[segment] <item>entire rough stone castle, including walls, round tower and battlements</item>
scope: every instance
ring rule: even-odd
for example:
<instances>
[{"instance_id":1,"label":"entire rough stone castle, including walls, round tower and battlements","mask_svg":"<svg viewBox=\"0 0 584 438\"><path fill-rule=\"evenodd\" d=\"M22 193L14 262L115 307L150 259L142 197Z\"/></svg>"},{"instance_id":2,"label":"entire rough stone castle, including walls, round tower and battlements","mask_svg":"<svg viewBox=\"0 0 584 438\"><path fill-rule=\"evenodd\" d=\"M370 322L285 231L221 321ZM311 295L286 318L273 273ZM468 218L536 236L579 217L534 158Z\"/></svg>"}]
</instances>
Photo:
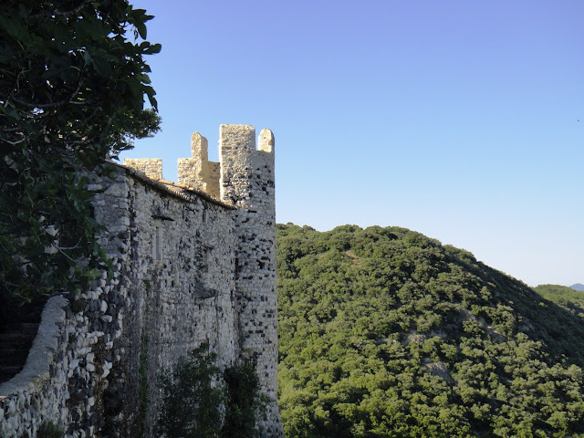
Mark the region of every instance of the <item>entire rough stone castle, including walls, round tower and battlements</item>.
<instances>
[{"instance_id":1,"label":"entire rough stone castle, including walls, round tower and battlements","mask_svg":"<svg viewBox=\"0 0 584 438\"><path fill-rule=\"evenodd\" d=\"M257 151L251 126L222 125L220 136L221 172L195 133L193 158L184 159L193 162L183 162L180 174L183 184L221 201L145 177L162 178L160 161L126 161L144 173L119 166L112 180L92 178L114 274L104 272L80 297L49 300L25 369L0 387L0 436L36 436L43 421L67 437L154 436L162 368L203 341L221 367L242 355L257 360L272 398L261 427L265 436L283 436L274 136L262 130Z\"/></svg>"}]
</instances>

